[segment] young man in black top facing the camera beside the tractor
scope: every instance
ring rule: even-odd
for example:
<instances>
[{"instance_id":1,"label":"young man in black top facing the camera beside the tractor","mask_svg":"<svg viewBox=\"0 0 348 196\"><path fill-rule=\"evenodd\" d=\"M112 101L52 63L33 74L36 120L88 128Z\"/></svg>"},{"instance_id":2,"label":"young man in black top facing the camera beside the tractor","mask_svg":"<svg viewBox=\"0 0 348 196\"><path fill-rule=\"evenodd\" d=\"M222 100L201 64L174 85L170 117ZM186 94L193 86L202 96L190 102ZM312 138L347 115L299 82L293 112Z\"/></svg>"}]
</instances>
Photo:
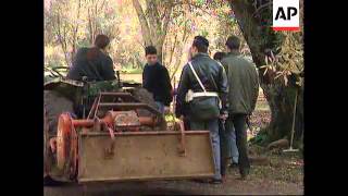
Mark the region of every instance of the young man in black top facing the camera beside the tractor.
<instances>
[{"instance_id":1,"label":"young man in black top facing the camera beside the tractor","mask_svg":"<svg viewBox=\"0 0 348 196\"><path fill-rule=\"evenodd\" d=\"M145 56L147 64L142 72L142 87L152 93L160 112L164 114L173 100L170 75L166 68L158 62L153 46L145 48Z\"/></svg>"}]
</instances>

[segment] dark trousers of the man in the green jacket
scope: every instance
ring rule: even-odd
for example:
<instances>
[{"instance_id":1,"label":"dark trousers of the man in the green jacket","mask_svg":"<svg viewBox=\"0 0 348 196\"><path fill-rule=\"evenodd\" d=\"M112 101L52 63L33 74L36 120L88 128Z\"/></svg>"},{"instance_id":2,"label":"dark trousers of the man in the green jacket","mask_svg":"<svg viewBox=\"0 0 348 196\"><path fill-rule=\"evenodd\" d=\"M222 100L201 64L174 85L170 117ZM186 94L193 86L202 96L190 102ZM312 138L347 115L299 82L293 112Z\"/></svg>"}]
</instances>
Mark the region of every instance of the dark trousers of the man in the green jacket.
<instances>
[{"instance_id":1,"label":"dark trousers of the man in the green jacket","mask_svg":"<svg viewBox=\"0 0 348 196\"><path fill-rule=\"evenodd\" d=\"M239 152L238 164L240 174L245 174L250 169L247 148L246 119L246 114L232 114L226 120L226 128L228 128L228 131L235 128L236 132L236 143Z\"/></svg>"}]
</instances>

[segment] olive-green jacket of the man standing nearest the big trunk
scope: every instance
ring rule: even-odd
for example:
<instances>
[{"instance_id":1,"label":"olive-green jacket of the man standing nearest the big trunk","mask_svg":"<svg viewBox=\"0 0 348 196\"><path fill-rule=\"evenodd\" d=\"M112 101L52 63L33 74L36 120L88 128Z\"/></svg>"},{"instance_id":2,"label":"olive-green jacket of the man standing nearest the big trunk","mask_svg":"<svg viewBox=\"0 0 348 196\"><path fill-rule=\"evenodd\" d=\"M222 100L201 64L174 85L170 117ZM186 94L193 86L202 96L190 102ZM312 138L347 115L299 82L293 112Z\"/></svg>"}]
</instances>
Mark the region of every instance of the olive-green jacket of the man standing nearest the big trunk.
<instances>
[{"instance_id":1,"label":"olive-green jacket of the man standing nearest the big trunk","mask_svg":"<svg viewBox=\"0 0 348 196\"><path fill-rule=\"evenodd\" d=\"M238 52L231 52L221 63L228 77L231 114L251 114L259 95L259 76L253 63Z\"/></svg>"}]
</instances>

